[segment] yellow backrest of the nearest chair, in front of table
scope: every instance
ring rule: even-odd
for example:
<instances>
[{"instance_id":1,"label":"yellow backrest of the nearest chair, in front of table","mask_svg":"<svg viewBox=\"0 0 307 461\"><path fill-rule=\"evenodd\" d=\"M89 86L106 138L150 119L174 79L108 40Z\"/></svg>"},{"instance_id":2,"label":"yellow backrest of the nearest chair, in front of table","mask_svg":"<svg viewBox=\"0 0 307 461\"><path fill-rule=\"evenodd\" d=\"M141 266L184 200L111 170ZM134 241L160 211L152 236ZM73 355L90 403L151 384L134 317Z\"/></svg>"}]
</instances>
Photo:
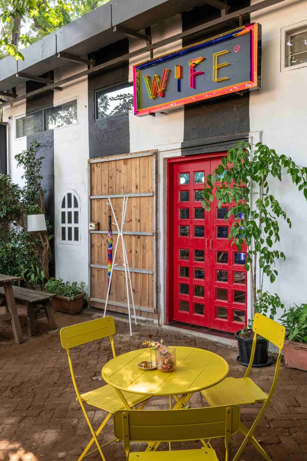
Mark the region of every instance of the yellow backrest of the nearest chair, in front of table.
<instances>
[{"instance_id":1,"label":"yellow backrest of the nearest chair, in front of table","mask_svg":"<svg viewBox=\"0 0 307 461\"><path fill-rule=\"evenodd\" d=\"M125 440L125 415L128 418L128 439L131 442L172 442L225 437L227 410L232 416L231 434L235 434L239 429L240 409L237 405L223 405L186 410L120 410L114 414L115 437Z\"/></svg>"}]
</instances>

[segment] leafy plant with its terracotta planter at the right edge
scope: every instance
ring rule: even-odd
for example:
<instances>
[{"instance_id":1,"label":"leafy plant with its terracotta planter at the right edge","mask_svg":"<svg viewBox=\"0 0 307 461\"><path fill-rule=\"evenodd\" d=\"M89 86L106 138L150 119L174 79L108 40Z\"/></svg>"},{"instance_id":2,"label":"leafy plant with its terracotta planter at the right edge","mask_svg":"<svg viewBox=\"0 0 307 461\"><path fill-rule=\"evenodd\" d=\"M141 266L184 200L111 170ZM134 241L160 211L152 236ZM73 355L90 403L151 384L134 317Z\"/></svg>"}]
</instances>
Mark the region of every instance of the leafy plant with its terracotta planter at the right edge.
<instances>
[{"instance_id":1,"label":"leafy plant with its terracotta planter at the right edge","mask_svg":"<svg viewBox=\"0 0 307 461\"><path fill-rule=\"evenodd\" d=\"M307 371L307 303L290 307L279 319L286 327L284 362L288 368Z\"/></svg>"}]
</instances>

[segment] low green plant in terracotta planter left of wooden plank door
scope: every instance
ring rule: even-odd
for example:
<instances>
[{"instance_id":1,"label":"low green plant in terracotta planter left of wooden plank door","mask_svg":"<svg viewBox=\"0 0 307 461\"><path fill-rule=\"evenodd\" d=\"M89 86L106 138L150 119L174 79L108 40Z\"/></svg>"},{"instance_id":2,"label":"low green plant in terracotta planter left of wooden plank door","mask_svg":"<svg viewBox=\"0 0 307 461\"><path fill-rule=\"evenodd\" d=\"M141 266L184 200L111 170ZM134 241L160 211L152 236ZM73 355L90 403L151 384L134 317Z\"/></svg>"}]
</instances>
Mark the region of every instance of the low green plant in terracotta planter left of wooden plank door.
<instances>
[{"instance_id":1,"label":"low green plant in terracotta planter left of wooden plank door","mask_svg":"<svg viewBox=\"0 0 307 461\"><path fill-rule=\"evenodd\" d=\"M55 311L66 312L75 315L82 311L85 296L85 283L66 282L62 278L50 278L45 285L48 293L54 293L52 307Z\"/></svg>"}]
</instances>

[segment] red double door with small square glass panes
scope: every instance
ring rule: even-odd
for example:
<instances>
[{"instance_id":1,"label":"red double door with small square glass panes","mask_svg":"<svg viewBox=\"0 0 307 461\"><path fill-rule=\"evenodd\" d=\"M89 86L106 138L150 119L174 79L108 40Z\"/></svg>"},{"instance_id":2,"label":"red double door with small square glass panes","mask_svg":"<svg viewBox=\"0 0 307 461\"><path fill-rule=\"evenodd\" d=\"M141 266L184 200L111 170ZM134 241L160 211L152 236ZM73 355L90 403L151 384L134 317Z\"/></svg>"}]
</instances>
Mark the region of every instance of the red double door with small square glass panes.
<instances>
[{"instance_id":1,"label":"red double door with small square glass panes","mask_svg":"<svg viewBox=\"0 0 307 461\"><path fill-rule=\"evenodd\" d=\"M209 212L201 204L204 178L225 154L168 160L167 310L168 321L235 332L246 325L246 247L238 253L228 240L234 203L218 208L214 193Z\"/></svg>"}]
</instances>

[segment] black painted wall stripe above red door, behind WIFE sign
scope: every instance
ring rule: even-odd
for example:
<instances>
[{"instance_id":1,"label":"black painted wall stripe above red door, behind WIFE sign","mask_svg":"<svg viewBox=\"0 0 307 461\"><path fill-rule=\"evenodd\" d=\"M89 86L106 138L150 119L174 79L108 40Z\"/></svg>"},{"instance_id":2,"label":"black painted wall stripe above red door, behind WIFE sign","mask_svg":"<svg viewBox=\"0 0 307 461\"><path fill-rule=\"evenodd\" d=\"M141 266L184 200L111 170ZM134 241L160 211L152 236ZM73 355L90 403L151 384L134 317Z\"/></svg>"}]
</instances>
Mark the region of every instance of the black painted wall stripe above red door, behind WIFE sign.
<instances>
[{"instance_id":1,"label":"black painted wall stripe above red door, behind WIFE sign","mask_svg":"<svg viewBox=\"0 0 307 461\"><path fill-rule=\"evenodd\" d=\"M249 1L230 0L230 12L249 6ZM205 5L182 13L182 30L191 29L199 24L204 24L214 18L220 17L216 8ZM249 16L243 18L243 24L249 23ZM188 46L221 32L238 27L237 20L231 24L223 24L215 29L210 29L197 37L192 36L183 40L182 46ZM249 93L243 96L230 95L202 101L197 104L185 106L184 142L206 139L216 136L225 136L249 132Z\"/></svg>"}]
</instances>

